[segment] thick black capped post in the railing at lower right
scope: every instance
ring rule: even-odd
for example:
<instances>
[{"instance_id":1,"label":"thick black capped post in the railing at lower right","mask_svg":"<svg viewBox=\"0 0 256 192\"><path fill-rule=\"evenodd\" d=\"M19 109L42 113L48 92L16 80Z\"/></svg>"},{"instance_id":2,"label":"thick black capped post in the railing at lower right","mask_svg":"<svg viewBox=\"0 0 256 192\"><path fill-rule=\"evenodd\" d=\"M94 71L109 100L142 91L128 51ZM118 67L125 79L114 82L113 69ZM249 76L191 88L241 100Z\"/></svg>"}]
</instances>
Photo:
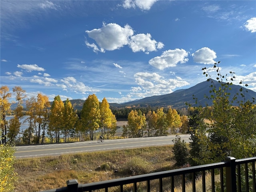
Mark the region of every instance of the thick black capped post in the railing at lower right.
<instances>
[{"instance_id":1,"label":"thick black capped post in the railing at lower right","mask_svg":"<svg viewBox=\"0 0 256 192\"><path fill-rule=\"evenodd\" d=\"M236 158L225 157L225 161L229 163L226 167L226 191L236 191Z\"/></svg>"}]
</instances>

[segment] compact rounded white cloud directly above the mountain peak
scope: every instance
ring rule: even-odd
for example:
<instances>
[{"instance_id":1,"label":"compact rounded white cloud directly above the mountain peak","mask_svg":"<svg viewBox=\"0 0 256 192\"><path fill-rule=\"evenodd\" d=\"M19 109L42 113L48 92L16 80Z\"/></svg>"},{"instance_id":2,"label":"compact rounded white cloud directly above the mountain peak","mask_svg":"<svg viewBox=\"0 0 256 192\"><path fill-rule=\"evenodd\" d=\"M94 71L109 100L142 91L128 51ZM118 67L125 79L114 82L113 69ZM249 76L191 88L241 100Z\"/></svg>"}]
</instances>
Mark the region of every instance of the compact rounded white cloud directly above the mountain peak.
<instances>
[{"instance_id":1,"label":"compact rounded white cloud directly above the mountain peak","mask_svg":"<svg viewBox=\"0 0 256 192\"><path fill-rule=\"evenodd\" d=\"M203 47L192 54L194 62L202 64L214 64L217 57L213 50Z\"/></svg>"}]
</instances>

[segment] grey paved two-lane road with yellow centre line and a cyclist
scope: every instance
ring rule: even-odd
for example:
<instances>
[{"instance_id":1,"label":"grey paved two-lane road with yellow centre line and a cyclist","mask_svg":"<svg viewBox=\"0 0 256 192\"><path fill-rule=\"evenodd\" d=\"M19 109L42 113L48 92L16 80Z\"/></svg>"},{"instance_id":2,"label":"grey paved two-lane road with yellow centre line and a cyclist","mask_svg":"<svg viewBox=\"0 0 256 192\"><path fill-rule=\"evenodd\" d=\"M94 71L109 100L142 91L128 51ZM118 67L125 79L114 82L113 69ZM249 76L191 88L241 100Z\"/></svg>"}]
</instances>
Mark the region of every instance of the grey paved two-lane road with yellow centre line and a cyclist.
<instances>
[{"instance_id":1,"label":"grey paved two-lane road with yellow centre line and a cyclist","mask_svg":"<svg viewBox=\"0 0 256 192\"><path fill-rule=\"evenodd\" d=\"M180 135L185 142L189 142L190 135ZM104 140L103 143L96 141L45 144L33 146L17 146L14 156L16 158L32 158L42 156L58 156L68 153L96 152L106 150L118 150L128 148L139 148L148 146L163 146L173 144L175 135L161 137L128 138L116 140Z\"/></svg>"}]
</instances>

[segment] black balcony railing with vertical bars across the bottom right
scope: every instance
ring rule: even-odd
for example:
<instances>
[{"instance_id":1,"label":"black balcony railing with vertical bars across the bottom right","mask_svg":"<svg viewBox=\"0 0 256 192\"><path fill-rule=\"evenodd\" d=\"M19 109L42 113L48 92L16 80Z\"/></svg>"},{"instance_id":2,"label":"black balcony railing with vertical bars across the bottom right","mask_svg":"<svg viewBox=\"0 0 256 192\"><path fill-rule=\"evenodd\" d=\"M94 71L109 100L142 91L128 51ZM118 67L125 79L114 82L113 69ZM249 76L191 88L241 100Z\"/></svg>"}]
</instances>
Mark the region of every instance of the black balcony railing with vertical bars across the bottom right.
<instances>
[{"instance_id":1,"label":"black balcony railing with vertical bars across the bottom right","mask_svg":"<svg viewBox=\"0 0 256 192\"><path fill-rule=\"evenodd\" d=\"M255 163L256 157L238 160L234 157L226 157L224 162L219 163L155 172L89 184L78 184L75 179L68 180L66 187L44 192L92 192L94 190L98 190L98 192L150 192L150 190L152 191L152 186L154 187L153 191L163 192L166 190L174 192L175 184L180 185L181 191L185 192L188 180L192 184L192 191L196 192L196 182L198 182L196 178L198 178L198 176L201 178L200 180L202 180L200 191L205 192L207 174L211 175L210 188L212 192L217 190L216 186L218 186L218 191L220 192L256 192ZM218 182L215 181L215 175L220 177ZM177 176L180 181L178 183L174 179ZM140 185L140 183L144 183L144 185Z\"/></svg>"}]
</instances>

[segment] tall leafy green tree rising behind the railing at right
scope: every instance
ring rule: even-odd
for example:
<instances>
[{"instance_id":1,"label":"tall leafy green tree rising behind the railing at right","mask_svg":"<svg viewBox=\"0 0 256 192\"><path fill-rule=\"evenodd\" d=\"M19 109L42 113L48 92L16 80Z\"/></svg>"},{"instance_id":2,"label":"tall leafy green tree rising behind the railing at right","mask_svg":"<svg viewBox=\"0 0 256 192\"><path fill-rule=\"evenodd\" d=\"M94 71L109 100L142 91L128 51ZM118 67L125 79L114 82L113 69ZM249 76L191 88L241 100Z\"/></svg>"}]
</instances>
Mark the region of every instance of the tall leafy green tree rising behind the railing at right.
<instances>
[{"instance_id":1,"label":"tall leafy green tree rising behind the railing at right","mask_svg":"<svg viewBox=\"0 0 256 192\"><path fill-rule=\"evenodd\" d=\"M236 78L235 73L229 72L229 75L222 75L219 63L213 66L216 68L217 82L212 80L206 67L202 68L203 74L208 78L207 81L211 82L210 95L205 97L212 100L212 105L196 107L198 114L193 116L197 119L198 126L192 131L192 142L197 142L206 148L200 156L193 157L193 161L198 164L218 162L224 160L226 156L246 158L256 154L255 142L252 142L256 140L255 98L246 100L244 87L231 95L230 90ZM241 81L240 84L242 83ZM242 100L238 99L241 98L240 96ZM197 102L197 99L194 99ZM208 119L208 123L202 121L204 119ZM198 147L195 144L192 146Z\"/></svg>"}]
</instances>

